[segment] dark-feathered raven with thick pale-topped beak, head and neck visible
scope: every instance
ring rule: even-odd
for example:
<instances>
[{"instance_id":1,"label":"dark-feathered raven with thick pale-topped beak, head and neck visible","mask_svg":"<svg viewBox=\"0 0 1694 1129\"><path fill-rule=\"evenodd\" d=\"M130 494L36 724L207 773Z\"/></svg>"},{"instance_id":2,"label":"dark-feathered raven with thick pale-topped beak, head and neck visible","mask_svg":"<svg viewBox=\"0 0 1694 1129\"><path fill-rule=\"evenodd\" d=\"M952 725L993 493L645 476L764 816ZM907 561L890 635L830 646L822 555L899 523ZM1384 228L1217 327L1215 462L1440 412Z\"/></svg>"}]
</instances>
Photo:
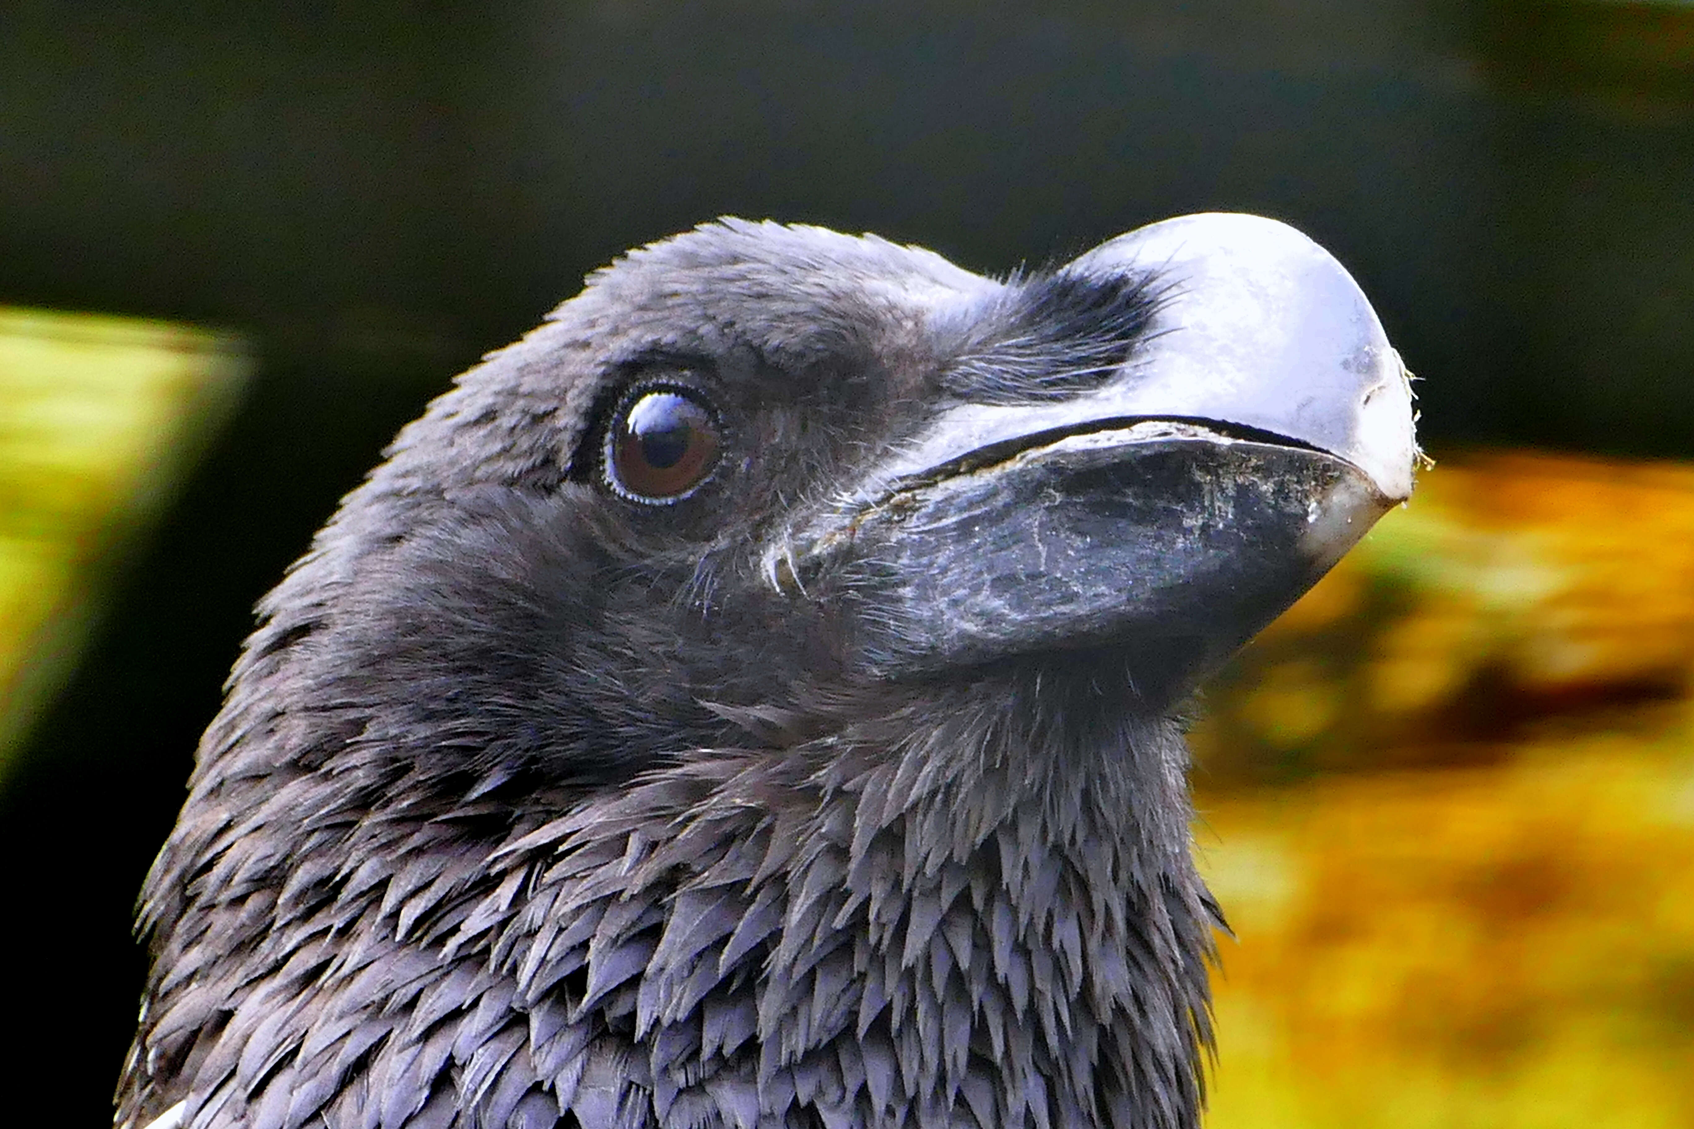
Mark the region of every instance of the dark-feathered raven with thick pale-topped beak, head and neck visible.
<instances>
[{"instance_id":1,"label":"dark-feathered raven with thick pale-topped beak, head and neck visible","mask_svg":"<svg viewBox=\"0 0 1694 1129\"><path fill-rule=\"evenodd\" d=\"M1196 1126L1184 702L1416 459L1272 220L627 254L259 604L117 1122Z\"/></svg>"}]
</instances>

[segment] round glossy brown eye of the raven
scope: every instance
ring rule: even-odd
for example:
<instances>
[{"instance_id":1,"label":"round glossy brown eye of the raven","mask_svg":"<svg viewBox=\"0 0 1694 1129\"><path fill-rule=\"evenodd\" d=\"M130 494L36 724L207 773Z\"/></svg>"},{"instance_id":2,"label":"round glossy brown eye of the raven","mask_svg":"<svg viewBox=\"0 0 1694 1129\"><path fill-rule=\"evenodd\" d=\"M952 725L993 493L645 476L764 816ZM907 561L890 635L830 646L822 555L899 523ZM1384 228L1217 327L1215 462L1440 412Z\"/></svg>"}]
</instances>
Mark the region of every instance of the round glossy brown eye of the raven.
<instances>
[{"instance_id":1,"label":"round glossy brown eye of the raven","mask_svg":"<svg viewBox=\"0 0 1694 1129\"><path fill-rule=\"evenodd\" d=\"M606 435L606 479L639 501L676 501L718 462L717 416L691 394L664 388L632 396Z\"/></svg>"}]
</instances>

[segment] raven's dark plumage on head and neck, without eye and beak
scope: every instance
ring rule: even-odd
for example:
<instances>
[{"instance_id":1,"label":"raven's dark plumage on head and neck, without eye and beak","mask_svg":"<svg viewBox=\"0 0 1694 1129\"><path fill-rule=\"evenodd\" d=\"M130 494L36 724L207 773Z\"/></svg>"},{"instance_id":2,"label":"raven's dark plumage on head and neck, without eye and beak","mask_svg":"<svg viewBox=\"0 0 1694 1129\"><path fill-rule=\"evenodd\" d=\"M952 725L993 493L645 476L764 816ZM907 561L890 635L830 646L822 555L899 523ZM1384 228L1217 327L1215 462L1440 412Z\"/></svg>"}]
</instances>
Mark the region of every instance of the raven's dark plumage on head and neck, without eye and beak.
<instances>
[{"instance_id":1,"label":"raven's dark plumage on head and neck, without eye and beak","mask_svg":"<svg viewBox=\"0 0 1694 1129\"><path fill-rule=\"evenodd\" d=\"M1110 652L872 679L756 552L927 406L1093 388L1155 295L725 222L464 374L259 608L119 1122L1194 1126L1179 723ZM644 506L596 437L659 376L734 427Z\"/></svg>"}]
</instances>

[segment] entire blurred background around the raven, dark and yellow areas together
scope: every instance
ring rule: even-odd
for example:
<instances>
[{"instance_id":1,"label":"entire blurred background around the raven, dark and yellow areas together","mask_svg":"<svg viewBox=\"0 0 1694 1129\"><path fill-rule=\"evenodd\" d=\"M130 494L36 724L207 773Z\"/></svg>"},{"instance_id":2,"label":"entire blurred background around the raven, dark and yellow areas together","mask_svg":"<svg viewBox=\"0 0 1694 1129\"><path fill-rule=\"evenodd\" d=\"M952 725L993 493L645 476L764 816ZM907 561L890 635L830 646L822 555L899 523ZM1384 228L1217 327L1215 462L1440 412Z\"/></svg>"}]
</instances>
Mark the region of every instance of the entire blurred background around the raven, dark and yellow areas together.
<instances>
[{"instance_id":1,"label":"entire blurred background around the raven, dark and yellow areas together","mask_svg":"<svg viewBox=\"0 0 1694 1129\"><path fill-rule=\"evenodd\" d=\"M586 271L720 213L998 273L1213 208L1355 273L1438 465L1206 697L1210 1124L1694 1124L1669 0L5 0L5 1107L108 1124L252 603Z\"/></svg>"}]
</instances>

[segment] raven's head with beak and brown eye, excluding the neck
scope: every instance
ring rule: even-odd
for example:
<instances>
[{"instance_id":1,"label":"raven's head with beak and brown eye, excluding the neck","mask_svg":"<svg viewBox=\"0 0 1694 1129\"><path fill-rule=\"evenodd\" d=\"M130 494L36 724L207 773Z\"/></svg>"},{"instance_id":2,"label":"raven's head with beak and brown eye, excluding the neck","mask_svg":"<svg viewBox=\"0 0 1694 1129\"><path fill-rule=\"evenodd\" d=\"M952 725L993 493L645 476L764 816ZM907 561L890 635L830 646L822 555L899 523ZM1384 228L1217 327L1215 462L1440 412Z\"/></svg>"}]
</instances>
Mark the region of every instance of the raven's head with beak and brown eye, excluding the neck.
<instances>
[{"instance_id":1,"label":"raven's head with beak and brown eye, excluding the neck","mask_svg":"<svg viewBox=\"0 0 1694 1129\"><path fill-rule=\"evenodd\" d=\"M1409 494L1409 399L1270 220L1005 281L706 225L412 425L246 662L291 648L296 708L459 779L623 779L994 672L1160 713Z\"/></svg>"}]
</instances>

